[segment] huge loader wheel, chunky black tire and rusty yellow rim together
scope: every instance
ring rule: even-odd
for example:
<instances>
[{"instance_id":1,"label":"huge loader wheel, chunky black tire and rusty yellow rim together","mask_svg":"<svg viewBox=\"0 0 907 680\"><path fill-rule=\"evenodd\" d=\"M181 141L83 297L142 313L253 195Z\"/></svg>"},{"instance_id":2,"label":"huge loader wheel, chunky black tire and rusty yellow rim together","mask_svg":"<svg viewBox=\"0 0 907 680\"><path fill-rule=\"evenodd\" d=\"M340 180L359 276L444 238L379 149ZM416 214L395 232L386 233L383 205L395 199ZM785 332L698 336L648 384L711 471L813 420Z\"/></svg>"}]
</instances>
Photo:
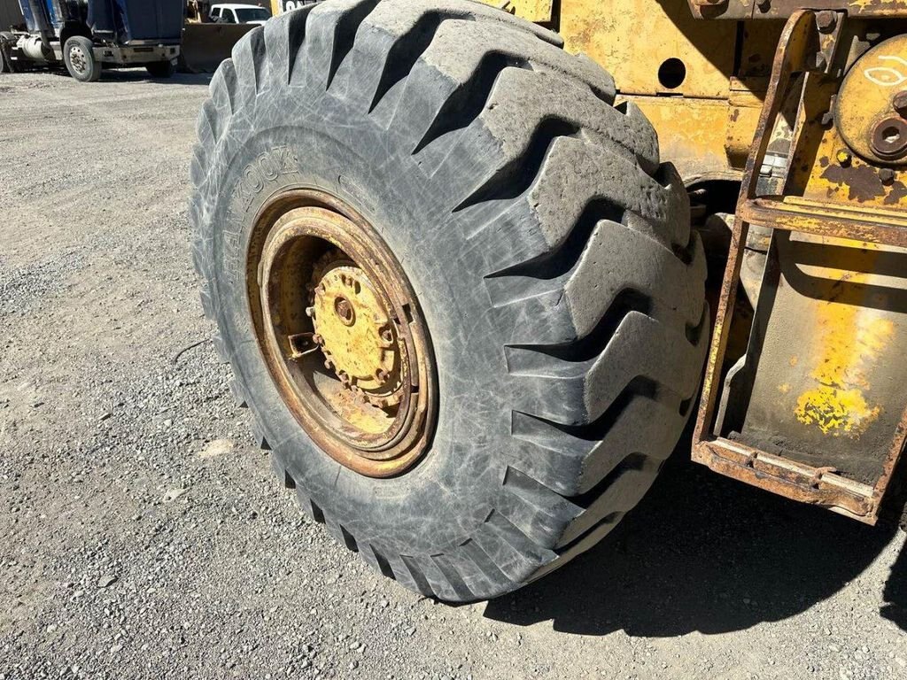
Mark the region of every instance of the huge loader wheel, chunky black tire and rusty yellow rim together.
<instances>
[{"instance_id":1,"label":"huge loader wheel, chunky black tire and rusty yellow rim together","mask_svg":"<svg viewBox=\"0 0 907 680\"><path fill-rule=\"evenodd\" d=\"M687 194L610 76L490 6L330 0L246 35L210 92L202 306L303 508L450 601L605 536L708 341Z\"/></svg>"}]
</instances>

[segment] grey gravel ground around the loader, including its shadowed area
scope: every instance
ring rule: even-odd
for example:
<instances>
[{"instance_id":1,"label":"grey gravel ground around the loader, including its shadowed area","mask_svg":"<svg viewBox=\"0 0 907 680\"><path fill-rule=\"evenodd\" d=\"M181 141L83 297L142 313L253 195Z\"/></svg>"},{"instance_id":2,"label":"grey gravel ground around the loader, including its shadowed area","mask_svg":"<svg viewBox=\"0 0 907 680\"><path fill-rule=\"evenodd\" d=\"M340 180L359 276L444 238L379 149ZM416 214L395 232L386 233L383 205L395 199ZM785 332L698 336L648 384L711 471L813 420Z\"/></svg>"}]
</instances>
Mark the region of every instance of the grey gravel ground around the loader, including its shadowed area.
<instances>
[{"instance_id":1,"label":"grey gravel ground around the loader, including its shadowed area","mask_svg":"<svg viewBox=\"0 0 907 680\"><path fill-rule=\"evenodd\" d=\"M902 533L719 478L688 441L605 543L492 603L340 549L207 340L206 85L0 76L0 680L907 678Z\"/></svg>"}]
</instances>

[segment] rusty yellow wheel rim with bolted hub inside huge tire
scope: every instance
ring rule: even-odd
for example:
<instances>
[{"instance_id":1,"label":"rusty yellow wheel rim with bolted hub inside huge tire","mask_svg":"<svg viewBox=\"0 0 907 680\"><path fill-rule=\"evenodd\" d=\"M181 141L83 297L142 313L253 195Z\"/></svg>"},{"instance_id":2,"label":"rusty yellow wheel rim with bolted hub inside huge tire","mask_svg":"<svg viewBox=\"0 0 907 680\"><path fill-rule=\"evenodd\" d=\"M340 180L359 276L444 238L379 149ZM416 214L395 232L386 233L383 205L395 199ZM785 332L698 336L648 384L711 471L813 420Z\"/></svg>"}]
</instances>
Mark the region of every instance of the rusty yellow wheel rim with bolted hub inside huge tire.
<instances>
[{"instance_id":1,"label":"rusty yellow wheel rim with bolted hub inside huge tire","mask_svg":"<svg viewBox=\"0 0 907 680\"><path fill-rule=\"evenodd\" d=\"M249 255L258 346L297 422L350 470L412 468L434 430L434 356L384 239L345 202L294 190L262 210Z\"/></svg>"}]
</instances>

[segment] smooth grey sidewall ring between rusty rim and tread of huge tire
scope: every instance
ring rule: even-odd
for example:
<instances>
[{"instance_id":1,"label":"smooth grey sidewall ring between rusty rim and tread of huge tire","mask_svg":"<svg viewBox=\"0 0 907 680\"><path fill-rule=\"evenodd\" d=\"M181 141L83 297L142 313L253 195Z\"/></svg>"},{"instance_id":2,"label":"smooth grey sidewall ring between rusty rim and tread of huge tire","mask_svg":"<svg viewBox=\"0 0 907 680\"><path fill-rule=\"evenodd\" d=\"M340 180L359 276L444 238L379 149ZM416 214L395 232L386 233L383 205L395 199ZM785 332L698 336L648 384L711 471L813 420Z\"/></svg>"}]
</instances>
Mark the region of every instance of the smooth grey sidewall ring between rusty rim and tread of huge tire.
<instances>
[{"instance_id":1,"label":"smooth grey sidewall ring between rusty rim and tread of huge tire","mask_svg":"<svg viewBox=\"0 0 907 680\"><path fill-rule=\"evenodd\" d=\"M259 94L231 121L203 189L211 206L212 294L219 325L269 444L298 487L354 536L397 553L460 545L498 504L515 445L506 337L466 247L453 197L426 177L412 141L331 94ZM280 115L270 115L279 111ZM274 126L276 119L292 126ZM332 121L344 120L343 126ZM275 172L275 168L279 171ZM282 402L251 324L246 254L258 211L289 189L320 189L385 239L420 302L434 346L439 414L422 461L395 479L349 471L317 449Z\"/></svg>"}]
</instances>

